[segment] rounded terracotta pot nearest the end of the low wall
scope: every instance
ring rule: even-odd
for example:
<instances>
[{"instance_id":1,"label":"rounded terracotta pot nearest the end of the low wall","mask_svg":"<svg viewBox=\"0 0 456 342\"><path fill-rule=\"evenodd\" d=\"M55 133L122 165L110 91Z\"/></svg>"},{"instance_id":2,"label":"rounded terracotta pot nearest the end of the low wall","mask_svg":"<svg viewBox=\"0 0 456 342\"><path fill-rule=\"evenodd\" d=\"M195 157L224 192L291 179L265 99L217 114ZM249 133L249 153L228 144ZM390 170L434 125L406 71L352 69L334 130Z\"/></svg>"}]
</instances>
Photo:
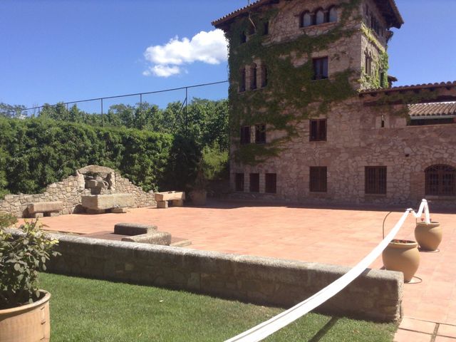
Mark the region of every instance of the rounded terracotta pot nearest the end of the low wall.
<instances>
[{"instance_id":1,"label":"rounded terracotta pot nearest the end of the low wall","mask_svg":"<svg viewBox=\"0 0 456 342\"><path fill-rule=\"evenodd\" d=\"M420 252L415 241L393 240L382 254L383 265L389 271L400 271L404 281L412 280L420 265Z\"/></svg>"}]
</instances>

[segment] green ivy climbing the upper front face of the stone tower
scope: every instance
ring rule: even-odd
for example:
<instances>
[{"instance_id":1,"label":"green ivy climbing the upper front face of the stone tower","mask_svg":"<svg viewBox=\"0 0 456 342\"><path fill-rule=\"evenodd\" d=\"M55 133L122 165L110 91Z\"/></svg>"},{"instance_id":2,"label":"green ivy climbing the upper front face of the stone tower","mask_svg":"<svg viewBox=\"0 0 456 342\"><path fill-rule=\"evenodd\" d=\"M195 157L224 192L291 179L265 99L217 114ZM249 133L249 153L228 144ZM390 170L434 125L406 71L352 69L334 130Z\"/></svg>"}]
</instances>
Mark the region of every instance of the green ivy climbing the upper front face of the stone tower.
<instances>
[{"instance_id":1,"label":"green ivy climbing the upper front face of the stone tower","mask_svg":"<svg viewBox=\"0 0 456 342\"><path fill-rule=\"evenodd\" d=\"M268 131L281 132L264 145L238 145L234 161L247 165L264 162L268 157L277 155L281 145L297 135L296 125L303 120L325 114L331 104L356 95L353 89L353 70L331 74L331 79L313 81L314 70L311 53L323 51L330 44L353 36L358 30L346 28L346 21L356 15L360 0L341 4L341 16L327 33L308 36L305 32L292 41L272 43L264 34L267 21L274 21L275 10L251 14L249 18L238 19L232 24L227 38L229 40L230 69L230 127L232 138L239 138L242 125L264 123ZM257 32L247 36L243 43L243 33L249 32L251 21ZM340 56L333 56L338 58ZM239 93L242 68L255 61L267 66L268 83L265 88L247 90Z\"/></svg>"}]
</instances>

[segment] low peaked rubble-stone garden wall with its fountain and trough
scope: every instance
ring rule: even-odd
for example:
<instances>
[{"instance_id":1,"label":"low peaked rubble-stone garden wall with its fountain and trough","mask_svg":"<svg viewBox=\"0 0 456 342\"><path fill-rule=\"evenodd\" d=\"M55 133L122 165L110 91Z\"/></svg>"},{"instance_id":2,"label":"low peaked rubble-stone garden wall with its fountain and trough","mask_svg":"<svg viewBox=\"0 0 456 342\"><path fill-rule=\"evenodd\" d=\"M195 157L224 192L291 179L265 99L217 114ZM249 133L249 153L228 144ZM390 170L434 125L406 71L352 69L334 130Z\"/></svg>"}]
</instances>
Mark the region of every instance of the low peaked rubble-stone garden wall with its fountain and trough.
<instances>
[{"instance_id":1,"label":"low peaked rubble-stone garden wall with its fountain and trough","mask_svg":"<svg viewBox=\"0 0 456 342\"><path fill-rule=\"evenodd\" d=\"M0 211L16 217L43 217L58 214L100 214L125 212L126 208L156 207L152 191L144 192L109 167L88 165L46 187L36 195L6 195Z\"/></svg>"}]
</instances>

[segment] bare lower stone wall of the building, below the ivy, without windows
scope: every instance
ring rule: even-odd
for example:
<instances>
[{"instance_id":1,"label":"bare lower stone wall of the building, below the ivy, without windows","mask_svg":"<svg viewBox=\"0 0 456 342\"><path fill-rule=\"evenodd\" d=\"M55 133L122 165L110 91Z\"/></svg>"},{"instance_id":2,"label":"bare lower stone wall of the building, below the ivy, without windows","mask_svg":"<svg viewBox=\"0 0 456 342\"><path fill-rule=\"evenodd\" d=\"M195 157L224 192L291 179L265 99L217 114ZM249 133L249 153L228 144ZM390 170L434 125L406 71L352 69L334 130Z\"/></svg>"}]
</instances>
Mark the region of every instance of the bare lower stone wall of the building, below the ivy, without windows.
<instances>
[{"instance_id":1,"label":"bare lower stone wall of the building, below the ivy, without windows","mask_svg":"<svg viewBox=\"0 0 456 342\"><path fill-rule=\"evenodd\" d=\"M244 191L249 192L249 173L255 172L260 174L260 194L254 196L265 199L415 207L427 198L433 207L455 206L456 197L425 195L425 169L437 164L456 167L456 124L408 126L394 110L365 106L359 98L333 105L320 118L327 119L326 141L309 141L309 120L296 123L299 136L285 142L278 157L256 166L232 162L232 189L235 173L241 172ZM268 134L266 139L272 140L281 132ZM314 166L327 167L327 192L310 192L309 170ZM385 195L365 193L366 166L387 167ZM265 173L277 175L275 195L262 195Z\"/></svg>"}]
</instances>

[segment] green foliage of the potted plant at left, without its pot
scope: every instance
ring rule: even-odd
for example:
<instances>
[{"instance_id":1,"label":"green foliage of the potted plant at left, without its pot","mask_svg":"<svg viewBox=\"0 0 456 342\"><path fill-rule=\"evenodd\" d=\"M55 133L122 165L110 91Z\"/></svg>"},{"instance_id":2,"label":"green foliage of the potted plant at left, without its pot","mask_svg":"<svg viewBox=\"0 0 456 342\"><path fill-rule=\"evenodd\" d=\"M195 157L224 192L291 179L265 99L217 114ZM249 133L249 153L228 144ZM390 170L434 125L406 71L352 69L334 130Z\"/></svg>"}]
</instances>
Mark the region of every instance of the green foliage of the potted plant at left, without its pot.
<instances>
[{"instance_id":1,"label":"green foliage of the potted plant at left, without its pot","mask_svg":"<svg viewBox=\"0 0 456 342\"><path fill-rule=\"evenodd\" d=\"M0 228L0 309L39 299L38 271L45 271L46 261L58 254L52 252L57 240L41 232L38 220L26 222L22 230L24 235L12 237Z\"/></svg>"}]
</instances>

